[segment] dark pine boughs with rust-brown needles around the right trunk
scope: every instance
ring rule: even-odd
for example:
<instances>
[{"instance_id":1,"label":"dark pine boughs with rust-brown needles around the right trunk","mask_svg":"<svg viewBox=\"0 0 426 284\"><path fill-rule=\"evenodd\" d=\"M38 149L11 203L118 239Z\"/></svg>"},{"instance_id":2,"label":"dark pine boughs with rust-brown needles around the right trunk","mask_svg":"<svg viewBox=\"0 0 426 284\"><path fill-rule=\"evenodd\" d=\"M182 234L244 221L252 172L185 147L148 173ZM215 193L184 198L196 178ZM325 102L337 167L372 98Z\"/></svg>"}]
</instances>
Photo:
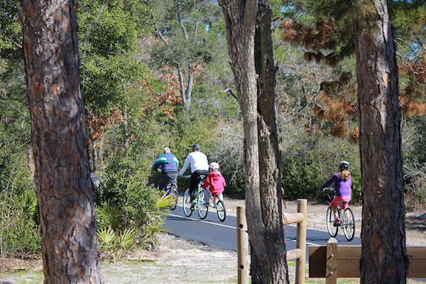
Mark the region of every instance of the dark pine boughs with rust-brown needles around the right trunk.
<instances>
[{"instance_id":1,"label":"dark pine boughs with rust-brown needles around the right trunk","mask_svg":"<svg viewBox=\"0 0 426 284\"><path fill-rule=\"evenodd\" d=\"M424 89L425 75L425 1L393 3L395 38L401 48L410 51L417 46L417 53L400 56L400 76L407 81L400 90L400 107L403 115L422 115L426 111ZM354 58L354 9L349 1L287 1L290 8L280 28L283 40L305 48L306 60L337 66L346 58ZM293 10L294 9L294 10ZM302 16L294 11L302 11ZM368 6L360 9L368 13ZM414 24L412 24L414 23ZM404 53L403 53L404 54ZM341 71L337 80L322 82L314 114L332 124L330 133L339 138L348 138L352 143L359 141L358 102L356 75Z\"/></svg>"}]
</instances>

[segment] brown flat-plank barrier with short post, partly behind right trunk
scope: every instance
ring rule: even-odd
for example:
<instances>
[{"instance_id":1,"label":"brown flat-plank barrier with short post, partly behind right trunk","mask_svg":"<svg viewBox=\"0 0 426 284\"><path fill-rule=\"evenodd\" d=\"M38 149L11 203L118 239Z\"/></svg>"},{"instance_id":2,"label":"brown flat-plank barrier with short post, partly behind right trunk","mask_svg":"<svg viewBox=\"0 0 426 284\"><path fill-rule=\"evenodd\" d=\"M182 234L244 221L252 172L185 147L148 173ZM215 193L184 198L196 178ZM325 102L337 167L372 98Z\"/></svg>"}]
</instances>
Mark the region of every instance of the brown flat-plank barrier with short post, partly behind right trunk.
<instances>
[{"instance_id":1,"label":"brown flat-plank barrier with short post, partly behind right trunk","mask_svg":"<svg viewBox=\"0 0 426 284\"><path fill-rule=\"evenodd\" d=\"M410 259L408 278L426 277L426 246L407 246ZM327 246L309 246L309 277L325 278L327 284L337 283L337 278L359 278L361 246L337 246L330 238Z\"/></svg>"}]
</instances>

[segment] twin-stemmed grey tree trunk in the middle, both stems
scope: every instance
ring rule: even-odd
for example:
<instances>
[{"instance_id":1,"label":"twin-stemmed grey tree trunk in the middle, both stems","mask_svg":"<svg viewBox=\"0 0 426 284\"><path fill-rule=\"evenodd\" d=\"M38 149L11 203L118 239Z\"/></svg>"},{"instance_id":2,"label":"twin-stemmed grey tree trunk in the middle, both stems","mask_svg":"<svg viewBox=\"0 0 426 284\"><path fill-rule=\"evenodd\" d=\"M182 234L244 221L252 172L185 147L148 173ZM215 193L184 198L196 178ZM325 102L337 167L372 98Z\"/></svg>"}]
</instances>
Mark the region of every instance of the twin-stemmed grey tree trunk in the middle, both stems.
<instances>
[{"instance_id":1,"label":"twin-stemmed grey tree trunk in the middle, both stems","mask_svg":"<svg viewBox=\"0 0 426 284\"><path fill-rule=\"evenodd\" d=\"M260 12L256 0L223 0L219 4L224 12L231 67L244 119L246 216L250 243L261 267L261 281L288 283L280 218L271 13L267 2L263 3ZM259 16L259 34L262 33L257 48L260 54L258 75L254 55L256 15Z\"/></svg>"}]
</instances>

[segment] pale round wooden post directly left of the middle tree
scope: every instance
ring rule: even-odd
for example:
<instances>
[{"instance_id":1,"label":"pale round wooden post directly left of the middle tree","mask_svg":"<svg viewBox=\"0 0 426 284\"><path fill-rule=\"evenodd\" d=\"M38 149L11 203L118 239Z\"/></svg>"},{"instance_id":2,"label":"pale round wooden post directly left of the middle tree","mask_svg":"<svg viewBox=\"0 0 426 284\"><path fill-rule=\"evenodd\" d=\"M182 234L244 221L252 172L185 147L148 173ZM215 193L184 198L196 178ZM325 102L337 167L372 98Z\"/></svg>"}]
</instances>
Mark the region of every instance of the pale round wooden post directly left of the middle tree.
<instances>
[{"instance_id":1,"label":"pale round wooden post directly left of the middle tree","mask_svg":"<svg viewBox=\"0 0 426 284\"><path fill-rule=\"evenodd\" d=\"M238 284L249 284L249 234L246 208L236 207L236 248L238 254Z\"/></svg>"}]
</instances>

